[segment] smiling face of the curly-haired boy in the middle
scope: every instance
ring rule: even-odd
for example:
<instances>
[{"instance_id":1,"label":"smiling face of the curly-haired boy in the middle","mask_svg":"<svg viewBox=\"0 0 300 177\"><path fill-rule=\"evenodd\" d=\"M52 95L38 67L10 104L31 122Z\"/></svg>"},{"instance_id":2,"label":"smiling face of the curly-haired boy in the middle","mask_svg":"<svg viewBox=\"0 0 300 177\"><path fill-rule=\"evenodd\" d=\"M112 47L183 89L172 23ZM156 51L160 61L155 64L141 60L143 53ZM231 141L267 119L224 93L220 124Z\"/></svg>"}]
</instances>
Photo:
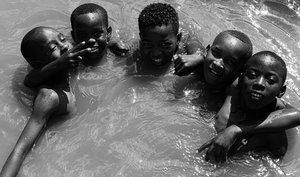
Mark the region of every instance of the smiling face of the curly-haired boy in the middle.
<instances>
[{"instance_id":1,"label":"smiling face of the curly-haired boy in the middle","mask_svg":"<svg viewBox=\"0 0 300 177\"><path fill-rule=\"evenodd\" d=\"M163 66L170 63L175 54L180 35L173 31L171 24L145 28L140 31L141 57L147 63Z\"/></svg>"}]
</instances>

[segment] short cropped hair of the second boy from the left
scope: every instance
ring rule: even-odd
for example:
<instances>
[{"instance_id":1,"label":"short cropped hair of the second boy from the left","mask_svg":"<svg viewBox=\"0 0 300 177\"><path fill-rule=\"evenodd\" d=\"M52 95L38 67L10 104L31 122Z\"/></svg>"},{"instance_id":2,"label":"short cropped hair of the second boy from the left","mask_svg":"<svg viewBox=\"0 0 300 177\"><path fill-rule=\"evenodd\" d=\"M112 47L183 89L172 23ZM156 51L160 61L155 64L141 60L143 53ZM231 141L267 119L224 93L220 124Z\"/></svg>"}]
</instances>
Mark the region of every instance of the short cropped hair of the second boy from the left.
<instances>
[{"instance_id":1,"label":"short cropped hair of the second boy from the left","mask_svg":"<svg viewBox=\"0 0 300 177\"><path fill-rule=\"evenodd\" d=\"M71 14L71 26L74 27L75 19L77 16L88 13L99 13L103 17L104 24L108 27L108 15L107 11L98 4L86 3L78 6Z\"/></svg>"}]
</instances>

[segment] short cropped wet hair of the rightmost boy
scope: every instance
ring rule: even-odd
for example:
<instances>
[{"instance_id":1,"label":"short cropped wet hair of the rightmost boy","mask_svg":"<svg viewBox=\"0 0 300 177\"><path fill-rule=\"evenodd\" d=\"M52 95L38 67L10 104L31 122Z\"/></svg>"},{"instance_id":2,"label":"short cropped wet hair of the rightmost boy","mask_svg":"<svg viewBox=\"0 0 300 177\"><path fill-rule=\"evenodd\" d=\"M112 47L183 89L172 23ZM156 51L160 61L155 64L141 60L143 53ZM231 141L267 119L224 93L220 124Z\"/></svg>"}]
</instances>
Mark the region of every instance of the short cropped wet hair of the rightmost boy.
<instances>
[{"instance_id":1,"label":"short cropped wet hair of the rightmost boy","mask_svg":"<svg viewBox=\"0 0 300 177\"><path fill-rule=\"evenodd\" d=\"M282 77L282 85L283 85L286 80L287 68L286 68L286 64L285 64L284 60L280 56L278 56L277 54L275 54L274 52L271 52L271 51L261 51L261 52L254 54L250 58L250 60L255 59L255 58L264 58L265 56L269 56L269 57L275 59L276 63L278 63L280 65L281 69L277 72L281 73L280 76ZM246 64L244 71L246 70L247 67L249 67L249 66Z\"/></svg>"}]
</instances>

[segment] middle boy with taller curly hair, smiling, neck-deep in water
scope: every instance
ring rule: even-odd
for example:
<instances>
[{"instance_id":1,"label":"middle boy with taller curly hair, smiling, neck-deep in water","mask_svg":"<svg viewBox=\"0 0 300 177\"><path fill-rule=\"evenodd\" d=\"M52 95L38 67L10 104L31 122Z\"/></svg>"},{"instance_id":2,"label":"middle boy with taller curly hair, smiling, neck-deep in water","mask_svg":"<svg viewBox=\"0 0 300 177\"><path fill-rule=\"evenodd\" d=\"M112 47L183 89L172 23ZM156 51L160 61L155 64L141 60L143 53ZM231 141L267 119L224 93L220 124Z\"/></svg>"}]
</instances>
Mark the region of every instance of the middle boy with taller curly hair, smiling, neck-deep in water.
<instances>
[{"instance_id":1,"label":"middle boy with taller curly hair, smiling, neck-deep in water","mask_svg":"<svg viewBox=\"0 0 300 177\"><path fill-rule=\"evenodd\" d=\"M138 18L139 47L134 51L132 64L134 72L139 74L161 75L169 71L173 55L186 53L189 57L201 57L197 52L202 44L188 37L180 43L179 20L176 10L169 4L153 3L146 6ZM191 55L194 54L194 55Z\"/></svg>"}]
</instances>

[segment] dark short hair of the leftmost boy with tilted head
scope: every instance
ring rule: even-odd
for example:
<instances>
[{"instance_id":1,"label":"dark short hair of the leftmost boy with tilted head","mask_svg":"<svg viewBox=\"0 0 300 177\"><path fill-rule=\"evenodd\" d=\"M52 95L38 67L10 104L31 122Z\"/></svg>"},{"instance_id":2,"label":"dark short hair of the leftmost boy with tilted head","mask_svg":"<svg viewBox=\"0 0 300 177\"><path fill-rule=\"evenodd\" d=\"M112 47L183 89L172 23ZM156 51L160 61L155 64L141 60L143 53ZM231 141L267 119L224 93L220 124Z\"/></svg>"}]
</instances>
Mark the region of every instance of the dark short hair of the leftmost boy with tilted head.
<instances>
[{"instance_id":1,"label":"dark short hair of the leftmost boy with tilted head","mask_svg":"<svg viewBox=\"0 0 300 177\"><path fill-rule=\"evenodd\" d=\"M36 61L40 58L36 56L36 51L39 50L38 44L36 43L37 41L37 34L42 32L45 29L53 29L50 27L45 27L45 26L39 26L35 27L32 30L30 30L28 33L25 34L21 41L21 53L25 60L33 67L36 68ZM53 29L54 30L54 29Z\"/></svg>"}]
</instances>

